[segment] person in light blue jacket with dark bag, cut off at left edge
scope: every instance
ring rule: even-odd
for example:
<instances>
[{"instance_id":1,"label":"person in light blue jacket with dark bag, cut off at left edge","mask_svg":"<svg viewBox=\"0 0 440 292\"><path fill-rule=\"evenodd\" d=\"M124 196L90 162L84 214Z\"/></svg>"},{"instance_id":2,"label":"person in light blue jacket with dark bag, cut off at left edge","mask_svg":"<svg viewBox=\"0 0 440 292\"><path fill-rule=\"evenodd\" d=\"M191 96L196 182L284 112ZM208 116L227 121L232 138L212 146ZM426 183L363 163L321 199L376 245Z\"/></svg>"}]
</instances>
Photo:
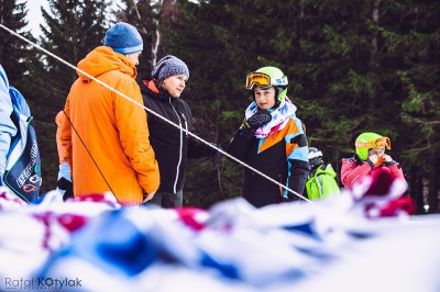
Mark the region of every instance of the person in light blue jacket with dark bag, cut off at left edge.
<instances>
[{"instance_id":1,"label":"person in light blue jacket with dark bag, cut off at left edge","mask_svg":"<svg viewBox=\"0 0 440 292\"><path fill-rule=\"evenodd\" d=\"M32 121L28 102L9 85L0 65L0 186L28 203L38 203L41 158Z\"/></svg>"}]
</instances>

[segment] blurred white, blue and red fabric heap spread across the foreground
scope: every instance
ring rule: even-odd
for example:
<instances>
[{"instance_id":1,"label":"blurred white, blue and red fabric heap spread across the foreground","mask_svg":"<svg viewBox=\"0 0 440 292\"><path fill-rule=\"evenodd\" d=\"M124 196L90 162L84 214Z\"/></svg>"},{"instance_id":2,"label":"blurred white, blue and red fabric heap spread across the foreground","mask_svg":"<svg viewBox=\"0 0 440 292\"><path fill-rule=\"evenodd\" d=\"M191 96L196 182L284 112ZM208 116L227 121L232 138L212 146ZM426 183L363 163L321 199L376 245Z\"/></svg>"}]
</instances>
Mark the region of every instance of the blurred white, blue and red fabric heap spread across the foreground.
<instances>
[{"instance_id":1,"label":"blurred white, blue and red fabric heap spread across the foreground","mask_svg":"<svg viewBox=\"0 0 440 292\"><path fill-rule=\"evenodd\" d=\"M382 180L383 181L383 180ZM0 290L440 291L440 216L402 181L254 209L121 207L114 196L26 205L0 188Z\"/></svg>"}]
</instances>

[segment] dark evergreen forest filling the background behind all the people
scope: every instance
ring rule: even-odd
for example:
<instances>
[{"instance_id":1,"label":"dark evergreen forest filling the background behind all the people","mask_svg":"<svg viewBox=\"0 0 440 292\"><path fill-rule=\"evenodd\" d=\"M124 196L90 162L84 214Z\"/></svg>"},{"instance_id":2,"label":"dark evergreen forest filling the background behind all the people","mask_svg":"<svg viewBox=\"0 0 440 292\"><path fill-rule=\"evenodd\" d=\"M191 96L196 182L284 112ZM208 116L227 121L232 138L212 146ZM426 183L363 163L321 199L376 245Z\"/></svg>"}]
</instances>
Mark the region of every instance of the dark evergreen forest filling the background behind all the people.
<instances>
[{"instance_id":1,"label":"dark evergreen forest filling the background behind all the people","mask_svg":"<svg viewBox=\"0 0 440 292\"><path fill-rule=\"evenodd\" d=\"M136 26L144 42L139 78L150 79L165 55L183 59L190 78L182 98L191 108L195 134L223 149L252 101L246 75L278 67L309 146L338 173L361 133L388 136L416 213L440 212L440 1L47 2L38 36L26 26L26 1L0 0L0 23L75 66L103 44L113 23ZM0 64L30 104L47 192L58 173L55 115L77 75L3 29ZM219 168L209 159L191 160L184 203L208 209L240 195L241 181L242 166L224 157Z\"/></svg>"}]
</instances>

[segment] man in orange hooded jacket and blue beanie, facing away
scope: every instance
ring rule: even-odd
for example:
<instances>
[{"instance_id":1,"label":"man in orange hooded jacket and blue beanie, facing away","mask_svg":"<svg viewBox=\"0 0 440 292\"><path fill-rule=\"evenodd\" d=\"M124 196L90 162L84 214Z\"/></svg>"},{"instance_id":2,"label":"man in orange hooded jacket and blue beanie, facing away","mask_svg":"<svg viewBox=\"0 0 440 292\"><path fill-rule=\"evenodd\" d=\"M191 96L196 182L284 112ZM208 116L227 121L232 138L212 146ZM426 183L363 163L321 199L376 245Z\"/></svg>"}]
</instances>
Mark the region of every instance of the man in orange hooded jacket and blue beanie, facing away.
<instances>
[{"instance_id":1,"label":"man in orange hooded jacket and blue beanie, facing away","mask_svg":"<svg viewBox=\"0 0 440 292\"><path fill-rule=\"evenodd\" d=\"M91 50L78 68L143 104L135 81L143 49L138 30L119 22L106 33L103 46ZM61 162L72 169L75 196L110 191L122 205L148 201L160 186L142 106L77 70L67 97L59 141Z\"/></svg>"}]
</instances>

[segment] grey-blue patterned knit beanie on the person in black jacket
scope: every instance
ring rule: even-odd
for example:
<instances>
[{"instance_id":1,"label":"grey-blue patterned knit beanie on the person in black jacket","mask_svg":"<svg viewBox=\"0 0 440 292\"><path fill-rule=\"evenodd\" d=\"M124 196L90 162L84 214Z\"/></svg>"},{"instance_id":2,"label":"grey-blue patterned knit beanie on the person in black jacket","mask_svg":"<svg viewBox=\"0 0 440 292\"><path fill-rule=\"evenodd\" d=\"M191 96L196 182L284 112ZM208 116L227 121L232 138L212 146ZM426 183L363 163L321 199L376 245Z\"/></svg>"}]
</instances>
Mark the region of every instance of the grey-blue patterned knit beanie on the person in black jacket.
<instances>
[{"instance_id":1,"label":"grey-blue patterned knit beanie on the person in black jacket","mask_svg":"<svg viewBox=\"0 0 440 292\"><path fill-rule=\"evenodd\" d=\"M163 57L156 66L154 66L152 71L152 77L160 82L176 75L185 75L189 78L189 70L182 59L173 55Z\"/></svg>"}]
</instances>

